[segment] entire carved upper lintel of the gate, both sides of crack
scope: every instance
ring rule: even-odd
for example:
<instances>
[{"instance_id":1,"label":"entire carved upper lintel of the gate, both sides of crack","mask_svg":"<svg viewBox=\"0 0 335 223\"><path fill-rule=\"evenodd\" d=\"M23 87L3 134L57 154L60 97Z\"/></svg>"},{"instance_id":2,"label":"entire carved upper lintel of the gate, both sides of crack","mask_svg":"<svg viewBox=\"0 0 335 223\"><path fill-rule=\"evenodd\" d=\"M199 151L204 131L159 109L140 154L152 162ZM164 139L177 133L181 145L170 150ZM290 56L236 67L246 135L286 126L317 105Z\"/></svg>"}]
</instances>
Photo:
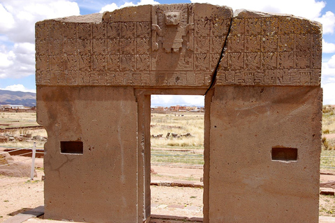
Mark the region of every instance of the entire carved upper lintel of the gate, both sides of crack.
<instances>
[{"instance_id":1,"label":"entire carved upper lintel of the gate, both sides of crack","mask_svg":"<svg viewBox=\"0 0 335 223\"><path fill-rule=\"evenodd\" d=\"M36 84L206 87L221 60L216 84L320 85L319 24L208 4L144 8L38 22Z\"/></svg>"}]
</instances>

